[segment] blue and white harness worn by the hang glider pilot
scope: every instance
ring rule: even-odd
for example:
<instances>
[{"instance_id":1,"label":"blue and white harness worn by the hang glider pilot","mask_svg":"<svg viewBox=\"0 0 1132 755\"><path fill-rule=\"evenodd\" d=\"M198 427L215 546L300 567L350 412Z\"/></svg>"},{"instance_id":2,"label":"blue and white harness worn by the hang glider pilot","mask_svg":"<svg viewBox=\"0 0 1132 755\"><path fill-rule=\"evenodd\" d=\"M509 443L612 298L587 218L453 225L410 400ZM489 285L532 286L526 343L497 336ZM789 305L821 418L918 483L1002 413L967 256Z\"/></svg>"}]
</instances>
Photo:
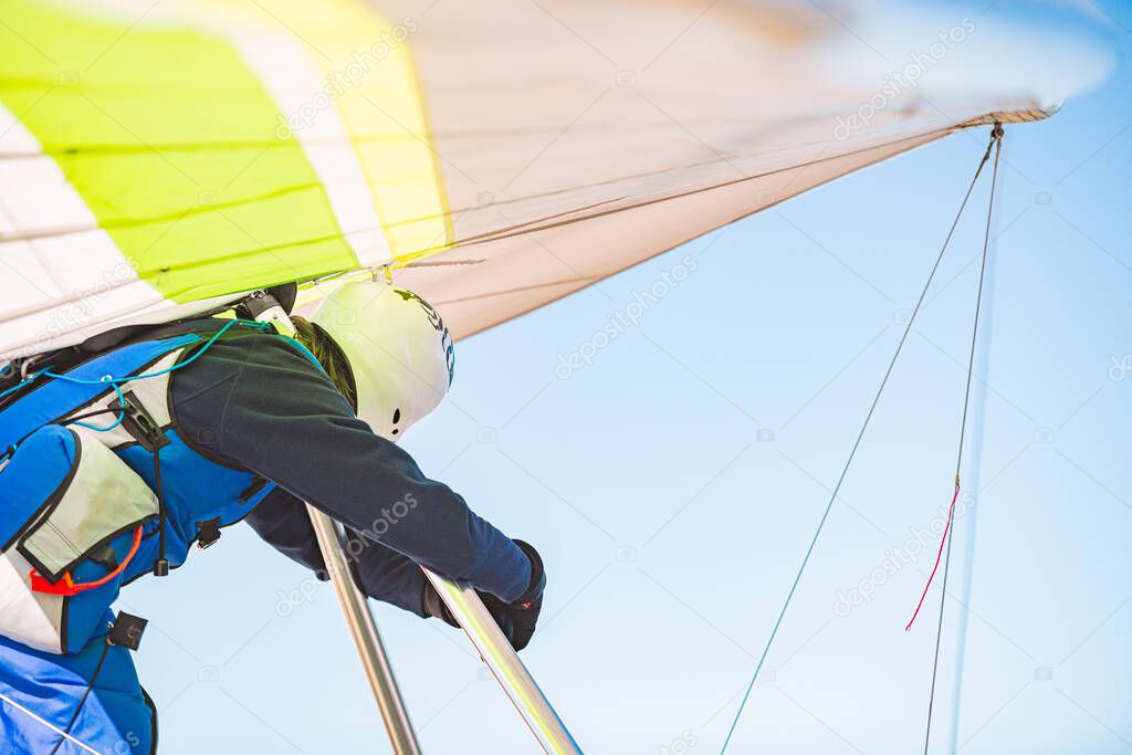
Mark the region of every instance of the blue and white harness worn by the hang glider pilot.
<instances>
[{"instance_id":1,"label":"blue and white harness worn by the hang glider pilot","mask_svg":"<svg viewBox=\"0 0 1132 755\"><path fill-rule=\"evenodd\" d=\"M230 331L274 333L217 323L48 367L0 392L0 740L16 752L156 747L156 715L127 650L137 637L115 634L123 619L137 634L144 621L115 619L110 606L122 584L215 542L273 488L178 428L172 372Z\"/></svg>"}]
</instances>

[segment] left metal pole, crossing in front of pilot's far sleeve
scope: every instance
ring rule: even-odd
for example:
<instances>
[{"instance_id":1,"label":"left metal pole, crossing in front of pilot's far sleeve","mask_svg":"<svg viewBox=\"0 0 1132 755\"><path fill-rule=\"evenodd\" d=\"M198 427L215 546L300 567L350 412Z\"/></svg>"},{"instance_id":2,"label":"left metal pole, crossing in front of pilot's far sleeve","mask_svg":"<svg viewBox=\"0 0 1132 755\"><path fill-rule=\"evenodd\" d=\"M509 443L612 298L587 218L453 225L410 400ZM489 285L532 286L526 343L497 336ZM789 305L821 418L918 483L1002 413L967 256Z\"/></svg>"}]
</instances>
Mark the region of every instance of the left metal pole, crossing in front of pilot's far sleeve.
<instances>
[{"instance_id":1,"label":"left metal pole, crossing in front of pilot's far sleeve","mask_svg":"<svg viewBox=\"0 0 1132 755\"><path fill-rule=\"evenodd\" d=\"M318 547L323 551L323 560L326 561L326 572L334 583L346 626L358 647L362 669L369 679L369 686L374 689L377 706L381 711L381 721L389 732L393 752L396 755L420 755L420 745L417 744L412 721L397 688L397 680L393 676L389 657L386 655L385 645L381 644L381 635L377 632L377 624L369 610L367 598L354 584L350 572L350 564L343 550L345 539L342 525L309 504L307 511L315 525Z\"/></svg>"}]
</instances>

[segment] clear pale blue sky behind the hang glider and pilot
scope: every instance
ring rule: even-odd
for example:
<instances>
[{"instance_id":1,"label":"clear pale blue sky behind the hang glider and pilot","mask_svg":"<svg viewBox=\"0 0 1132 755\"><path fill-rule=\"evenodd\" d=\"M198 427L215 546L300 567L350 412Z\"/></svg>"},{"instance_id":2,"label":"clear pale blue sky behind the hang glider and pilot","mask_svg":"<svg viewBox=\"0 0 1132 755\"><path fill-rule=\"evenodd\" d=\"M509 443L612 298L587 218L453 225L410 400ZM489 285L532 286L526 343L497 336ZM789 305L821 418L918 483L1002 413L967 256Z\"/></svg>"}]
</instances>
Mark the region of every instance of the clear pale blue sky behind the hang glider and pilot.
<instances>
[{"instance_id":1,"label":"clear pale blue sky behind the hang glider and pilot","mask_svg":"<svg viewBox=\"0 0 1132 755\"><path fill-rule=\"evenodd\" d=\"M1132 10L1104 8L1126 58ZM1006 134L933 752L1132 752L1130 94L1121 66ZM848 177L460 345L451 401L405 446L542 551L523 658L588 752L719 750L986 138ZM903 626L950 500L986 186L736 753L920 747L938 592ZM556 374L664 275L680 280L636 326ZM175 591L138 583L121 603L151 619L139 668L162 752L387 752L333 591L243 527L224 540ZM868 599L847 606L854 589ZM426 752L532 752L458 633L376 612Z\"/></svg>"}]
</instances>

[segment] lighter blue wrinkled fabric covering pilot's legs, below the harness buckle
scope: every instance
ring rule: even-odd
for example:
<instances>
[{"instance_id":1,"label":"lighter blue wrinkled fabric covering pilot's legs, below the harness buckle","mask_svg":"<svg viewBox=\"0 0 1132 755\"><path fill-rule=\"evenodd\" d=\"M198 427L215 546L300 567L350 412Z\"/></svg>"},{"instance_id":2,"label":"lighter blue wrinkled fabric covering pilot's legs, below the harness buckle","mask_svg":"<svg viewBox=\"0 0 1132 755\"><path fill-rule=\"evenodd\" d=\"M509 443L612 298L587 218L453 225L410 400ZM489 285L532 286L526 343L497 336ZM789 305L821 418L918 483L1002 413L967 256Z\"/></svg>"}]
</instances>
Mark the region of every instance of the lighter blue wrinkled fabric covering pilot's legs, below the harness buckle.
<instances>
[{"instance_id":1,"label":"lighter blue wrinkled fabric covering pilot's legs, below the harness buckle","mask_svg":"<svg viewBox=\"0 0 1132 755\"><path fill-rule=\"evenodd\" d=\"M106 612L106 621L113 614ZM154 755L157 714L130 651L106 629L72 655L0 637L0 743L3 753Z\"/></svg>"}]
</instances>

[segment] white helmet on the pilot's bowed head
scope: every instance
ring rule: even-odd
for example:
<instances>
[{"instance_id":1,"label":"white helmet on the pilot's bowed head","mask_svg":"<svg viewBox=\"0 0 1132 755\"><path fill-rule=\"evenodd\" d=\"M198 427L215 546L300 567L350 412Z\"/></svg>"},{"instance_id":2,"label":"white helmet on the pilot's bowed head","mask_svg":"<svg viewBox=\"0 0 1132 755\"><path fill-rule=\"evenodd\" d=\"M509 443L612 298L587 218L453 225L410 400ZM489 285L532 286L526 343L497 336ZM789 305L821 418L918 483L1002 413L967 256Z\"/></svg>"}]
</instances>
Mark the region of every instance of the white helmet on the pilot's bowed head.
<instances>
[{"instance_id":1,"label":"white helmet on the pilot's bowed head","mask_svg":"<svg viewBox=\"0 0 1132 755\"><path fill-rule=\"evenodd\" d=\"M452 385L452 335L432 307L412 291L376 281L346 283L311 320L350 360L358 418L398 440L436 409Z\"/></svg>"}]
</instances>

